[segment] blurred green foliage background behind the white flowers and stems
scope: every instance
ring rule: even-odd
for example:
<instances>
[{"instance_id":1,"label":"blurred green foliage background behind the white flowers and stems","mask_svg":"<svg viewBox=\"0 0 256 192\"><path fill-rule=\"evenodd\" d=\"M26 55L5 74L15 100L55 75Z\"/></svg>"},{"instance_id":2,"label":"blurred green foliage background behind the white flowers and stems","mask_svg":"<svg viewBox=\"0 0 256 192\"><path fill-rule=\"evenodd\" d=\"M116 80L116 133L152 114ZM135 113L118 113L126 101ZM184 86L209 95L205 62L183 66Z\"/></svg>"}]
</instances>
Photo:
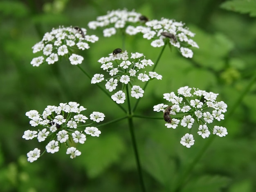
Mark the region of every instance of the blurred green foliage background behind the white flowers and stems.
<instances>
[{"instance_id":1,"label":"blurred green foliage background behind the white flowers and stems","mask_svg":"<svg viewBox=\"0 0 256 192\"><path fill-rule=\"evenodd\" d=\"M86 78L78 67L63 60L54 65L32 67L31 47L53 27L87 27L89 21L113 9L135 9L150 19L169 18L186 23L196 33L200 49L186 59L175 49L165 49L156 69L161 82L150 82L137 114L161 117L153 105L164 103L162 94L188 85L219 93L228 105L228 135L202 139L194 134L190 149L180 144L183 127L167 129L163 120L135 119L135 134L148 192L172 191L183 171L207 146L195 166L187 172L180 192L256 191L256 20L255 1L236 0L1 0L0 1L0 191L3 192L130 192L140 191L127 121L100 127L99 138L77 148L82 155L70 159L64 147L45 154L34 163L26 154L45 143L25 141L23 132L31 129L25 112L43 112L47 105L76 101L106 120L124 116ZM248 4L248 3L251 4ZM222 9L220 6L231 10ZM251 15L251 16L250 16ZM100 30L89 34L99 41L81 54L81 67L99 73L97 60L121 47L121 38L103 38ZM161 48L138 37L126 39L126 49L144 53L153 62ZM245 94L243 94L245 93ZM126 106L126 104L124 105ZM215 138L208 146L209 141Z\"/></svg>"}]
</instances>

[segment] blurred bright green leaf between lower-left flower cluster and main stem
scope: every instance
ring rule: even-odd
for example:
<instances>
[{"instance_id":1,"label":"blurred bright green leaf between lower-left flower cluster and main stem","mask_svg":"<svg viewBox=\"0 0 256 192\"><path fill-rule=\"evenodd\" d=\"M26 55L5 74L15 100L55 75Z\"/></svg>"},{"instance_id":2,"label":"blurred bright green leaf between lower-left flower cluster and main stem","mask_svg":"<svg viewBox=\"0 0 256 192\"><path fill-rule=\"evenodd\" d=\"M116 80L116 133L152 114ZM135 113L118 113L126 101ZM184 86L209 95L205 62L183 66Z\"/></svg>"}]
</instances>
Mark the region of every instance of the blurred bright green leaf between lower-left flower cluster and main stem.
<instances>
[{"instance_id":1,"label":"blurred bright green leaf between lower-left flower cluster and main stem","mask_svg":"<svg viewBox=\"0 0 256 192\"><path fill-rule=\"evenodd\" d=\"M81 149L84 152L84 158L80 159L82 162L79 162L79 165L86 169L90 178L95 178L110 165L118 162L120 154L124 150L124 142L117 134L108 134L107 136L100 136L100 138L88 138L88 141L83 145L83 149Z\"/></svg>"}]
</instances>

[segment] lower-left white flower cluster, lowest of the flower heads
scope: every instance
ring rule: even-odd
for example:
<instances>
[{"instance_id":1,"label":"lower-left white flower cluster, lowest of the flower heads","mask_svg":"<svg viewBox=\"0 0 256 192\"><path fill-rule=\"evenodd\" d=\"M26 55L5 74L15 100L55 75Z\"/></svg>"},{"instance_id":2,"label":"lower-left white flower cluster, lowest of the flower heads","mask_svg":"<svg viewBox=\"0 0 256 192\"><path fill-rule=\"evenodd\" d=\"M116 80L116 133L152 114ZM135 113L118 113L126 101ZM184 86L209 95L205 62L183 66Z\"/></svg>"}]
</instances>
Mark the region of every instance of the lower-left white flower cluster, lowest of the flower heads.
<instances>
[{"instance_id":1,"label":"lower-left white flower cluster, lowest of the flower heads","mask_svg":"<svg viewBox=\"0 0 256 192\"><path fill-rule=\"evenodd\" d=\"M88 118L81 114L84 110L86 110L85 107L79 106L76 102L60 103L59 106L48 105L42 114L36 110L30 110L26 112L26 116L30 119L29 124L32 127L43 127L43 129L26 130L22 138L25 140L37 138L38 142L45 141L47 137L50 138L51 141L47 143L45 149L46 152L53 154L58 152L61 143L70 146L69 142L73 140L74 143L83 144L86 141L86 134L99 137L101 131L97 127L85 127ZM105 115L101 112L90 114L90 120L96 123L103 121L104 117ZM79 127L85 127L85 129L78 131ZM75 147L68 147L66 154L70 154L70 158L73 159L81 155L81 152ZM40 157L40 150L35 148L27 153L27 157L29 162L36 161Z\"/></svg>"}]
</instances>

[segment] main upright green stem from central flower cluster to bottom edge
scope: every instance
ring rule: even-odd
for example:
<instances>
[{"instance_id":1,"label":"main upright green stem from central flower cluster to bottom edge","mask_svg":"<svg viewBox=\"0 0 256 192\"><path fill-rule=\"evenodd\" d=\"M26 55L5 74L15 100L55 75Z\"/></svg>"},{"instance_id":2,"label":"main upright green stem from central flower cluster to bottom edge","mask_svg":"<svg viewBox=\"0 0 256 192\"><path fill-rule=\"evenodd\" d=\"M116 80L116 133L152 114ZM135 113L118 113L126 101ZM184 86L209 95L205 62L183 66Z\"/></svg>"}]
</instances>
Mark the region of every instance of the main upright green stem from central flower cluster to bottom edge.
<instances>
[{"instance_id":1,"label":"main upright green stem from central flower cluster to bottom edge","mask_svg":"<svg viewBox=\"0 0 256 192\"><path fill-rule=\"evenodd\" d=\"M131 111L131 107L130 107L130 98L129 98L129 90L128 90L128 86L126 86L126 93L127 93L127 103L128 103L128 125L130 128L130 135L132 138L132 147L135 153L135 159L136 159L136 164L137 164L137 170L139 173L139 181L141 184L141 190L142 192L146 192L146 188L144 185L144 181L143 181L143 176L142 176L142 170L141 170L141 163L139 160L139 152L138 152L138 148L137 148L137 143L136 143L136 138L135 138L135 133L134 133L134 125L132 122L132 111Z\"/></svg>"}]
</instances>

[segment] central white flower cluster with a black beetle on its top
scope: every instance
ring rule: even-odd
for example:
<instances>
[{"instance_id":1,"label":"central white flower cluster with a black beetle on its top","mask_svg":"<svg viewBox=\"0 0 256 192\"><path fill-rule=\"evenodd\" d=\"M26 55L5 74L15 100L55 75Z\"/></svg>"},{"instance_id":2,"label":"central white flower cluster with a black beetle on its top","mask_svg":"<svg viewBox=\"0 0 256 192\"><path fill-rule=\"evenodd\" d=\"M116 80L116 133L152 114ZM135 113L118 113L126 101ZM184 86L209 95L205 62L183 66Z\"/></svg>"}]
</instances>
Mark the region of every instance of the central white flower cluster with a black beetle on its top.
<instances>
[{"instance_id":1,"label":"central white flower cluster with a black beetle on its top","mask_svg":"<svg viewBox=\"0 0 256 192\"><path fill-rule=\"evenodd\" d=\"M121 50L121 49L120 49ZM144 70L147 66L152 66L154 63L148 59L146 60L144 55L141 53L132 53L130 58L128 56L127 51L118 54L110 54L109 57L102 57L98 60L101 63L101 68L108 72L110 78L106 79L105 87L109 92L115 90L118 86L118 83L123 83L124 87L126 85L130 85L131 88L131 96L136 99L143 97L144 90L141 89L138 85L132 85L136 79L141 80L142 82L149 81L153 78L162 79L162 76L157 74L156 72L150 71L146 74L146 71L140 72ZM131 61L129 59L132 59ZM117 66L115 64L117 63ZM103 74L94 74L92 77L91 83L100 83L104 80ZM126 100L126 95L122 90L119 90L114 95L111 96L112 100L116 103L124 103Z\"/></svg>"}]
</instances>

